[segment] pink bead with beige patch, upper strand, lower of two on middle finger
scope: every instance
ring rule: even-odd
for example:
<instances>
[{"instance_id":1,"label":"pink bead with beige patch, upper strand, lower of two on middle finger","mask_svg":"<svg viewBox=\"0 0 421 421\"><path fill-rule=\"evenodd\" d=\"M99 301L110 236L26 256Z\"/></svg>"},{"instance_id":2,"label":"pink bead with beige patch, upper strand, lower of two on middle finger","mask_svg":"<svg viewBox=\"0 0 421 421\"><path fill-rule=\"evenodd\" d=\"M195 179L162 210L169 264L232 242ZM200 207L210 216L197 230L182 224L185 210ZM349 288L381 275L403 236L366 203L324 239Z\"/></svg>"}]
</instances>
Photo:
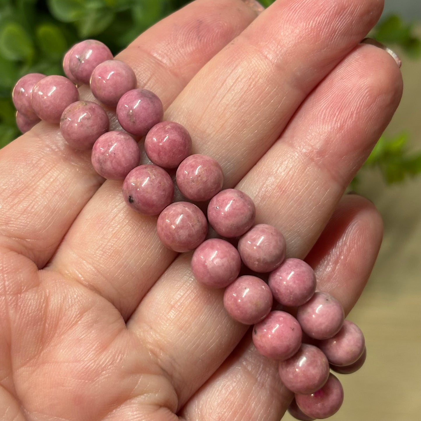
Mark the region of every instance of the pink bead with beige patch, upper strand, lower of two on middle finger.
<instances>
[{"instance_id":1,"label":"pink bead with beige patch, upper strand, lower of two on middle finger","mask_svg":"<svg viewBox=\"0 0 421 421\"><path fill-rule=\"evenodd\" d=\"M176 181L185 197L204 202L221 191L224 174L216 160L207 155L195 154L180 164Z\"/></svg>"}]
</instances>

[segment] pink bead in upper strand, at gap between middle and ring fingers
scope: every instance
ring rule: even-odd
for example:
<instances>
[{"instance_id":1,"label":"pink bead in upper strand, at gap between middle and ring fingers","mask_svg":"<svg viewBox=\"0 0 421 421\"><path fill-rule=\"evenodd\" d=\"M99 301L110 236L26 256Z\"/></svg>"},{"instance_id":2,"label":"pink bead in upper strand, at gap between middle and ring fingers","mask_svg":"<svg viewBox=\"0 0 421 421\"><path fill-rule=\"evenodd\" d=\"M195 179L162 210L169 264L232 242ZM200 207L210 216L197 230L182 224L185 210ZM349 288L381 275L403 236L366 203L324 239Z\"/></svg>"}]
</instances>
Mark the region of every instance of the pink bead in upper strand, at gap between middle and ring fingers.
<instances>
[{"instance_id":1,"label":"pink bead in upper strand, at gap between middle and ring fingers","mask_svg":"<svg viewBox=\"0 0 421 421\"><path fill-rule=\"evenodd\" d=\"M209 202L209 224L223 237L244 234L253 226L255 218L256 207L253 200L240 190L223 190Z\"/></svg>"}]
</instances>

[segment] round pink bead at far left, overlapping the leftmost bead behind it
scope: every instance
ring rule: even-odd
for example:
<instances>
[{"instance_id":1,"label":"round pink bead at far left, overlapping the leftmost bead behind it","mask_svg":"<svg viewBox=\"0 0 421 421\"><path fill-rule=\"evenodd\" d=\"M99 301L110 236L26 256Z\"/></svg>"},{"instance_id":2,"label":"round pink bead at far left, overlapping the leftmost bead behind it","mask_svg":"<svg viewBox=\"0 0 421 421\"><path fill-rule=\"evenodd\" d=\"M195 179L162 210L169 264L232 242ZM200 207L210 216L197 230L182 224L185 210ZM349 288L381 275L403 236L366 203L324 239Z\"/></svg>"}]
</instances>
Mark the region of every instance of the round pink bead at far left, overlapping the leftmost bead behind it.
<instances>
[{"instance_id":1,"label":"round pink bead at far left, overlapping the leftmost bead behind it","mask_svg":"<svg viewBox=\"0 0 421 421\"><path fill-rule=\"evenodd\" d=\"M71 80L64 76L43 77L31 95L31 105L41 120L60 123L63 111L79 99L79 93Z\"/></svg>"}]
</instances>

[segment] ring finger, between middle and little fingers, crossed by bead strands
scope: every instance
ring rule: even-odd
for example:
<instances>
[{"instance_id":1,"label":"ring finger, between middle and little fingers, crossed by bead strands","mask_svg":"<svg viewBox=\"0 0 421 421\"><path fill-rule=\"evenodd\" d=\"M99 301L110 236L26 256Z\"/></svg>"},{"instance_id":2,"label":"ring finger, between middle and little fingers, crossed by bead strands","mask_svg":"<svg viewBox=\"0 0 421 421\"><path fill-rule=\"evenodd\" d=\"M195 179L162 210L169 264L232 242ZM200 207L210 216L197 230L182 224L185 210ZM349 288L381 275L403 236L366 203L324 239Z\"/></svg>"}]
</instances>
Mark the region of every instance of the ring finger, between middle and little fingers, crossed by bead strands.
<instances>
[{"instance_id":1,"label":"ring finger, between middle and little fingers, crossed by bead strands","mask_svg":"<svg viewBox=\"0 0 421 421\"><path fill-rule=\"evenodd\" d=\"M256 222L280 229L288 255L302 258L309 252L390 120L401 90L391 56L368 45L356 48L241 181L240 188L256 204ZM181 402L224 361L245 331L228 318L221 291L195 282L186 256L152 287L128 326L157 355Z\"/></svg>"}]
</instances>

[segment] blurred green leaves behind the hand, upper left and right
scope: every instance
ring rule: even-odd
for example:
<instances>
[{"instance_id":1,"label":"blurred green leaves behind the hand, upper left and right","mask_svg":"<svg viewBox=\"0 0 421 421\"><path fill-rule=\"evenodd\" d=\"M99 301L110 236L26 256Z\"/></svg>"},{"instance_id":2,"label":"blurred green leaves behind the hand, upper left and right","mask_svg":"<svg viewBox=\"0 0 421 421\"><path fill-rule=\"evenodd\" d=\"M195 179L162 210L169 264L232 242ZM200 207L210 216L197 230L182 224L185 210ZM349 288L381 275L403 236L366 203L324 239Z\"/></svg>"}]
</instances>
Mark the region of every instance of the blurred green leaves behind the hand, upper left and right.
<instances>
[{"instance_id":1,"label":"blurred green leaves behind the hand, upper left and right","mask_svg":"<svg viewBox=\"0 0 421 421\"><path fill-rule=\"evenodd\" d=\"M187 0L0 0L0 147L19 136L11 91L30 72L63 74L61 60L70 46L98 39L116 54L141 32L181 8ZM261 0L269 6L273 0ZM386 16L370 36L411 59L421 57L413 23ZM388 184L421 173L421 153L408 152L410 133L382 136L365 168L376 168ZM363 168L364 171L364 168ZM356 188L362 174L352 182Z\"/></svg>"}]
</instances>

